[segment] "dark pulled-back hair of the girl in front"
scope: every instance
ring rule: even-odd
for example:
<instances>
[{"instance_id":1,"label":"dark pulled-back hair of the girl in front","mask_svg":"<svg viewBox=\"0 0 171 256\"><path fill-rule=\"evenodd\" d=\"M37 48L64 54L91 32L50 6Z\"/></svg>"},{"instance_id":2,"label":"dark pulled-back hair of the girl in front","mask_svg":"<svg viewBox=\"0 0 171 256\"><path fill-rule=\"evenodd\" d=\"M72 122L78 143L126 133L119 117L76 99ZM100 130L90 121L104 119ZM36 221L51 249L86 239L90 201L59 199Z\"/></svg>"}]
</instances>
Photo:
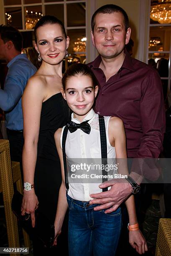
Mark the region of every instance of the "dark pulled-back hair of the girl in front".
<instances>
[{"instance_id":1,"label":"dark pulled-back hair of the girl in front","mask_svg":"<svg viewBox=\"0 0 171 256\"><path fill-rule=\"evenodd\" d=\"M96 87L96 85L99 85L92 70L86 64L78 63L78 64L72 64L71 66L69 66L68 69L66 69L66 72L64 73L64 76L62 77L62 85L63 85L64 90L66 88L66 83L69 80L69 78L75 77L77 75L90 77L92 79L94 88Z\"/></svg>"}]
</instances>

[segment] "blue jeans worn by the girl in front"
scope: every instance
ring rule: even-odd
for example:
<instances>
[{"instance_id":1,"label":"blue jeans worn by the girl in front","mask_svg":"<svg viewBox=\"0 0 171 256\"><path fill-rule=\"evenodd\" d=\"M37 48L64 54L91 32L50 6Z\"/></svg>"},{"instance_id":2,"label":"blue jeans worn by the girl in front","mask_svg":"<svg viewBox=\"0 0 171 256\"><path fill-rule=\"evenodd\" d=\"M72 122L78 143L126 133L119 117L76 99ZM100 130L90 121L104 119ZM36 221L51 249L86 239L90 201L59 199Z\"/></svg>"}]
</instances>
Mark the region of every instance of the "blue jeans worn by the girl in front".
<instances>
[{"instance_id":1,"label":"blue jeans worn by the girl in front","mask_svg":"<svg viewBox=\"0 0 171 256\"><path fill-rule=\"evenodd\" d=\"M69 205L69 256L114 256L122 226L121 210L94 211L97 205L74 200Z\"/></svg>"}]
</instances>

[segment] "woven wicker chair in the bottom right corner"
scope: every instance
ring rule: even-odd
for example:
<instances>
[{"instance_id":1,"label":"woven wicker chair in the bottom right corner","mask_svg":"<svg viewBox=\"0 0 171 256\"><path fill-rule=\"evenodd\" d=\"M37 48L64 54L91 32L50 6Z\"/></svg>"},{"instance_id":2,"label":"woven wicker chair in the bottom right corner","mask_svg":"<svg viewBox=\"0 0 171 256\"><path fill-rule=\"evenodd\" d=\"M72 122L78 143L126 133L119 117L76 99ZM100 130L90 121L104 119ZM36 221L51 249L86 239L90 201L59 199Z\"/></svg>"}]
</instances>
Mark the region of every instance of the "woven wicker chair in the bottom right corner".
<instances>
[{"instance_id":1,"label":"woven wicker chair in the bottom right corner","mask_svg":"<svg viewBox=\"0 0 171 256\"><path fill-rule=\"evenodd\" d=\"M160 219L155 256L171 256L171 219Z\"/></svg>"}]
</instances>

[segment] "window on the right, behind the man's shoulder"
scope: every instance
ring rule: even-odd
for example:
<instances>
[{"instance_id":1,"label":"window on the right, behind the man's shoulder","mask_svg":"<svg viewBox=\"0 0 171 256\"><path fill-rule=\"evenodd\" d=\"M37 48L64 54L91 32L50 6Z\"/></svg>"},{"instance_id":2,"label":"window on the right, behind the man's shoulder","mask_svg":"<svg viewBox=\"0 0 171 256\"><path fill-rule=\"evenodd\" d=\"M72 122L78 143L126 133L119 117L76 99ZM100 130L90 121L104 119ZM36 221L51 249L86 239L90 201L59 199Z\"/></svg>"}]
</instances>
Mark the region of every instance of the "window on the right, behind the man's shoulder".
<instances>
[{"instance_id":1,"label":"window on the right, behind the man's shoulder","mask_svg":"<svg viewBox=\"0 0 171 256\"><path fill-rule=\"evenodd\" d=\"M158 70L166 99L171 90L171 3L168 0L151 0L149 5L146 61Z\"/></svg>"}]
</instances>

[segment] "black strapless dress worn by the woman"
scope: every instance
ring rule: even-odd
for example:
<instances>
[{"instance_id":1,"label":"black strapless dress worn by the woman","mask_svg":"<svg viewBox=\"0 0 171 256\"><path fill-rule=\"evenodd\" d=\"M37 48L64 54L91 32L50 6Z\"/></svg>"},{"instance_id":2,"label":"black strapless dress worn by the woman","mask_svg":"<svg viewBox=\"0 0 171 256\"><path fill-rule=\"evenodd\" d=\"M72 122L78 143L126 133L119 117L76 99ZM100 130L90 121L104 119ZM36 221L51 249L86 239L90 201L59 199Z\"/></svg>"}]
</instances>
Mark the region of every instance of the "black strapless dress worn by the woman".
<instances>
[{"instance_id":1,"label":"black strapless dress worn by the woman","mask_svg":"<svg viewBox=\"0 0 171 256\"><path fill-rule=\"evenodd\" d=\"M55 220L61 186L61 165L54 141L54 133L58 128L66 125L68 117L68 108L61 93L57 93L43 102L34 184L39 201L39 210L51 220L51 223L54 223ZM65 241L67 247L66 242L67 238ZM34 255L40 255L40 247L38 242L36 242L36 246L33 243Z\"/></svg>"}]
</instances>

